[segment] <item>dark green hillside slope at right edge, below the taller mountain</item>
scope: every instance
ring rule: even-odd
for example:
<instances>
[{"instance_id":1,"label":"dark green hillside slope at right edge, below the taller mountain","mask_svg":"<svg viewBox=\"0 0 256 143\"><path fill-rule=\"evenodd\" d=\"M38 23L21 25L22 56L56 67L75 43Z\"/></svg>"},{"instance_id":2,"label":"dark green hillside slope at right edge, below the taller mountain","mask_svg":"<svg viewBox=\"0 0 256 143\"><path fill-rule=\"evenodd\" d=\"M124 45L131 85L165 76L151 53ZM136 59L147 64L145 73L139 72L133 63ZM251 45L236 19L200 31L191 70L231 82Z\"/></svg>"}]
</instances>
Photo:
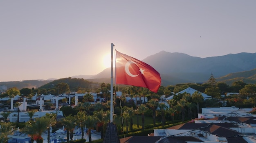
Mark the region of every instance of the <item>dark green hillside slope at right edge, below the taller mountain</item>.
<instances>
[{"instance_id":1,"label":"dark green hillside slope at right edge, below the taller mountain","mask_svg":"<svg viewBox=\"0 0 256 143\"><path fill-rule=\"evenodd\" d=\"M228 85L231 85L235 81L243 81L248 84L256 84L256 69L227 74L226 76L216 78L216 81L225 82Z\"/></svg>"}]
</instances>

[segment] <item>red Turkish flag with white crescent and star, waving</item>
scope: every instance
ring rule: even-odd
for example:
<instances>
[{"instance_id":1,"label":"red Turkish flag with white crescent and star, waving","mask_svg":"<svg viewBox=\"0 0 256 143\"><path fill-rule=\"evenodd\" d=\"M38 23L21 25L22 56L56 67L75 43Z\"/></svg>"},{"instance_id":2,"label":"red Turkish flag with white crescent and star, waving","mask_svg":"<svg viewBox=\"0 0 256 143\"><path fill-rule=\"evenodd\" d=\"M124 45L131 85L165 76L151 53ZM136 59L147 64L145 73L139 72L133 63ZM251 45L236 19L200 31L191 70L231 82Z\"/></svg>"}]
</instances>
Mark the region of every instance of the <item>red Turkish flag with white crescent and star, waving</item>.
<instances>
[{"instance_id":1,"label":"red Turkish flag with white crescent and star, waving","mask_svg":"<svg viewBox=\"0 0 256 143\"><path fill-rule=\"evenodd\" d=\"M156 93L161 77L150 65L116 50L116 84L146 87Z\"/></svg>"}]
</instances>

